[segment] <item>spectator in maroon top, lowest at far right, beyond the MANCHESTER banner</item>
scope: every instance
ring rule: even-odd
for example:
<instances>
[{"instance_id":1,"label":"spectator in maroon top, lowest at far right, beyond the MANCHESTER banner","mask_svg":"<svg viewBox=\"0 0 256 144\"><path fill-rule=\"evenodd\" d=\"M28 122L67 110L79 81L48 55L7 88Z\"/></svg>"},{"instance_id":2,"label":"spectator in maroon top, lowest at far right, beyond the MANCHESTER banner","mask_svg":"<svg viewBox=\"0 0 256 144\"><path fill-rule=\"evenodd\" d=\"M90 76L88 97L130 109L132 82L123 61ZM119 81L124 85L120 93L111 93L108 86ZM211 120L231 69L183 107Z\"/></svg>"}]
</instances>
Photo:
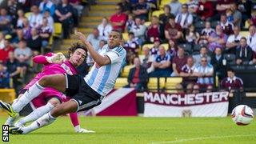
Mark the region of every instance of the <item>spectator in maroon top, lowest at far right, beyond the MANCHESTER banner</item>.
<instances>
[{"instance_id":1,"label":"spectator in maroon top, lowest at far right, beyond the MANCHESTER banner","mask_svg":"<svg viewBox=\"0 0 256 144\"><path fill-rule=\"evenodd\" d=\"M224 78L221 82L221 88L223 90L230 90L230 92L234 91L242 91L243 82L241 78L238 78L234 74L233 69L226 70L227 78Z\"/></svg>"}]
</instances>

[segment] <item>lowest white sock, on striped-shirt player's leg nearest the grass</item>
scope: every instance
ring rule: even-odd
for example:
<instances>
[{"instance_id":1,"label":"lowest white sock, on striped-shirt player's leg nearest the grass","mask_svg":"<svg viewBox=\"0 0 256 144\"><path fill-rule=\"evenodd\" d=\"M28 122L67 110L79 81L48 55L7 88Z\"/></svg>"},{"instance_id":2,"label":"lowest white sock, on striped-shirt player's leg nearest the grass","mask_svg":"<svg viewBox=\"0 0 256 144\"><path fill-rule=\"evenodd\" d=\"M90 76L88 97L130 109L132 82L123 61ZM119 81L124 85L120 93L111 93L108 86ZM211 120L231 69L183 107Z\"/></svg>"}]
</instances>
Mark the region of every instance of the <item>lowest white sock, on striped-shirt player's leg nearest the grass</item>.
<instances>
[{"instance_id":1,"label":"lowest white sock, on striped-shirt player's leg nearest the grass","mask_svg":"<svg viewBox=\"0 0 256 144\"><path fill-rule=\"evenodd\" d=\"M55 120L56 118L51 116L50 112L47 114L44 114L41 118L38 118L38 120L32 122L30 126L22 127L21 128L21 130L23 131L22 134L28 134L31 131L37 130L43 126L48 126Z\"/></svg>"}]
</instances>

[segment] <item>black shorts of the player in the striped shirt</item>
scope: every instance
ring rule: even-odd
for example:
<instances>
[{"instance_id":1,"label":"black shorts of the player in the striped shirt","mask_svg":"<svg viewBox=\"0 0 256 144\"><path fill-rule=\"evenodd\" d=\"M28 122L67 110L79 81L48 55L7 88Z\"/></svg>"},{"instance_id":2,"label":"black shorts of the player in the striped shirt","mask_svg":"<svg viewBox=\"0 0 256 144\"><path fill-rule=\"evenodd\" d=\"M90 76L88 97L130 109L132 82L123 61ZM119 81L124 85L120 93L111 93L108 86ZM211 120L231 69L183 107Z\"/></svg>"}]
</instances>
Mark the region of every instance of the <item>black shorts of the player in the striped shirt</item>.
<instances>
[{"instance_id":1,"label":"black shorts of the player in the striped shirt","mask_svg":"<svg viewBox=\"0 0 256 144\"><path fill-rule=\"evenodd\" d=\"M87 85L86 81L80 75L66 76L66 95L70 96L78 104L77 111L90 110L102 102L102 95L94 91Z\"/></svg>"}]
</instances>

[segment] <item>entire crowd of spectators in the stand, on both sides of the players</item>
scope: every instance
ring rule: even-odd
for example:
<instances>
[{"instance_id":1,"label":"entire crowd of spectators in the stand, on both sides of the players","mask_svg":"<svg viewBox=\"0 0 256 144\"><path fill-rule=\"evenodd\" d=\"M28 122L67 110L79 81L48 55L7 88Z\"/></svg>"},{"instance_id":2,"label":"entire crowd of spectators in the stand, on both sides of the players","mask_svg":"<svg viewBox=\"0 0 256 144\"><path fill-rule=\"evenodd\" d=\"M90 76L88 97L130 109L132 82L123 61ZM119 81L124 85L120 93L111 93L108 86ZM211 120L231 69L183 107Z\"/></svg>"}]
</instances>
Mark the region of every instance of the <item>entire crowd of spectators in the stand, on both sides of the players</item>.
<instances>
[{"instance_id":1,"label":"entire crowd of spectators in the stand, on both sides of the players","mask_svg":"<svg viewBox=\"0 0 256 144\"><path fill-rule=\"evenodd\" d=\"M48 45L54 22L62 22L63 38L69 37L71 25L78 26L80 1L61 1L10 0L1 8L0 61L7 66L0 67L2 75L14 77L26 70L30 58ZM154 10L162 10L162 14L152 15ZM246 30L246 22L248 34L240 34ZM256 10L250 0L189 0L183 4L170 0L163 7L157 0L121 0L115 13L102 18L87 40L100 52L111 30L128 34L123 46L126 65L134 64L128 77L130 87L146 89L149 77L179 76L183 82L178 89L211 90L216 74L223 79L221 86L230 89L225 82L241 80L234 74L226 78L230 65L256 64L255 26ZM90 57L87 64L93 64Z\"/></svg>"}]
</instances>

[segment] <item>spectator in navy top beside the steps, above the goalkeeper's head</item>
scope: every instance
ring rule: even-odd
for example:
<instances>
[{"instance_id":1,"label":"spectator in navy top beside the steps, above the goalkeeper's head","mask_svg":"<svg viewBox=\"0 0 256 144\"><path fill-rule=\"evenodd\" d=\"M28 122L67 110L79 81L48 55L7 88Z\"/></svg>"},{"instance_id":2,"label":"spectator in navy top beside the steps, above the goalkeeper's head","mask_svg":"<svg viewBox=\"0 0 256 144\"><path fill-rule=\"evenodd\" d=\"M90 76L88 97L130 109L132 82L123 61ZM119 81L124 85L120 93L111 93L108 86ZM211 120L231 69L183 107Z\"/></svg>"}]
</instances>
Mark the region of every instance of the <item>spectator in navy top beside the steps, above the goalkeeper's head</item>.
<instances>
[{"instance_id":1,"label":"spectator in navy top beside the steps, above the goalkeeper's head","mask_svg":"<svg viewBox=\"0 0 256 144\"><path fill-rule=\"evenodd\" d=\"M72 23L73 7L69 4L68 0L62 0L62 3L57 6L55 10L55 21L61 22L63 29L63 38L69 38L70 24Z\"/></svg>"}]
</instances>

